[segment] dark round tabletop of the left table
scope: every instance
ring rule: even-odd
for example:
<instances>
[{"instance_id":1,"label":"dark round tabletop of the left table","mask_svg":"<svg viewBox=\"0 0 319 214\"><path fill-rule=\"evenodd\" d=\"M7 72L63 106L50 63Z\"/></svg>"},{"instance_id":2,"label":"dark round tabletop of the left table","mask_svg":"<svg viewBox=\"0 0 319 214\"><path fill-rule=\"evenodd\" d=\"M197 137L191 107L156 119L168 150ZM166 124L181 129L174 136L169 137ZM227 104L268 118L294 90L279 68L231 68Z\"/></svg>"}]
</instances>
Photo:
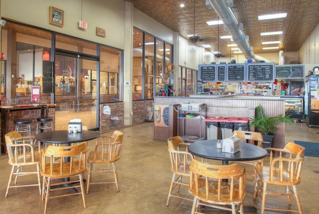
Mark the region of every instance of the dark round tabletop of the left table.
<instances>
[{"instance_id":1,"label":"dark round tabletop of the left table","mask_svg":"<svg viewBox=\"0 0 319 214\"><path fill-rule=\"evenodd\" d=\"M70 144L93 140L100 136L97 131L82 130L78 133L68 133L67 130L42 132L35 135L35 139L44 143Z\"/></svg>"}]
</instances>

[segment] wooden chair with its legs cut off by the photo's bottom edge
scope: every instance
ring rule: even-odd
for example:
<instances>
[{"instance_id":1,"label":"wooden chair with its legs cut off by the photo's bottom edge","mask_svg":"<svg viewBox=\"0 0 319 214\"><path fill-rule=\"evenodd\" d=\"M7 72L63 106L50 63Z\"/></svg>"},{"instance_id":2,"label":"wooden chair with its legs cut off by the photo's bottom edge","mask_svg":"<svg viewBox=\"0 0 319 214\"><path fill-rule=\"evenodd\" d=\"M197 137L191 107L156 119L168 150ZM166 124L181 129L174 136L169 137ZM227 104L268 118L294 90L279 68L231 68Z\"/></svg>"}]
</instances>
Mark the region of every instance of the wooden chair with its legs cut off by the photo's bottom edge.
<instances>
[{"instance_id":1,"label":"wooden chair with its legs cut off by the photo's bottom edge","mask_svg":"<svg viewBox=\"0 0 319 214\"><path fill-rule=\"evenodd\" d=\"M194 197L191 214L201 206L243 213L246 196L245 168L237 164L211 165L193 160L189 166L189 193ZM230 207L228 207L230 206Z\"/></svg>"}]
</instances>

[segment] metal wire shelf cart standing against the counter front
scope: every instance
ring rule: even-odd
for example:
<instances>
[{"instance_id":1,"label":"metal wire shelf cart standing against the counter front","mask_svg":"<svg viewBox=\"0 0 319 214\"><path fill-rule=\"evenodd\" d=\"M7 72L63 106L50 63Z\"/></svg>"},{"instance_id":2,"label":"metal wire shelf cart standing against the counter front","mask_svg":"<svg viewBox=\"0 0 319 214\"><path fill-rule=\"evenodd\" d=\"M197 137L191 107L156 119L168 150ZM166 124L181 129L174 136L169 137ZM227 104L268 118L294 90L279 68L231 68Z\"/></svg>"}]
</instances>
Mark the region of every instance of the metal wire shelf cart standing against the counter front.
<instances>
[{"instance_id":1,"label":"metal wire shelf cart standing against the counter front","mask_svg":"<svg viewBox=\"0 0 319 214\"><path fill-rule=\"evenodd\" d=\"M206 106L200 103L181 104L175 110L178 112L177 135L185 142L205 140Z\"/></svg>"}]
</instances>

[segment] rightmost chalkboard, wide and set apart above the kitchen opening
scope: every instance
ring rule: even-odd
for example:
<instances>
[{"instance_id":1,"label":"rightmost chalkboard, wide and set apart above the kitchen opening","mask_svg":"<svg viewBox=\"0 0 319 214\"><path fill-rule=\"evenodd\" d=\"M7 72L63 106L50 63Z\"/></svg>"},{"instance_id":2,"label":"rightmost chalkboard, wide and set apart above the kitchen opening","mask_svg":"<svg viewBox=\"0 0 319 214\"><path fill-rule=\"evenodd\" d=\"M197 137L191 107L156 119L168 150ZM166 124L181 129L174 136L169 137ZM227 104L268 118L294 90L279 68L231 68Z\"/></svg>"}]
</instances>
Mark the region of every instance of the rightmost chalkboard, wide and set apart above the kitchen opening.
<instances>
[{"instance_id":1,"label":"rightmost chalkboard, wide and set apart above the kitchen opening","mask_svg":"<svg viewBox=\"0 0 319 214\"><path fill-rule=\"evenodd\" d=\"M304 78L305 65L276 65L276 78L301 79Z\"/></svg>"}]
</instances>

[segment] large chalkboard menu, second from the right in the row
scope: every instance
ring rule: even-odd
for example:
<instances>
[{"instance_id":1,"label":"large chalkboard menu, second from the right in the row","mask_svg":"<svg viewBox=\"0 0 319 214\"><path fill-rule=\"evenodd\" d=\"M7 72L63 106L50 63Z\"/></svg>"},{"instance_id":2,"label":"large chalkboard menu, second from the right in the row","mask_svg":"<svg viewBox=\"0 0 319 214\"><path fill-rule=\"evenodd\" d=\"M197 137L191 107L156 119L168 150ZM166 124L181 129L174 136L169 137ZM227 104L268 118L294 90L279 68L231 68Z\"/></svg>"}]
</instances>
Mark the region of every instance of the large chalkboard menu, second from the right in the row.
<instances>
[{"instance_id":1,"label":"large chalkboard menu, second from the right in the row","mask_svg":"<svg viewBox=\"0 0 319 214\"><path fill-rule=\"evenodd\" d=\"M251 63L248 66L248 82L273 82L275 63Z\"/></svg>"}]
</instances>

